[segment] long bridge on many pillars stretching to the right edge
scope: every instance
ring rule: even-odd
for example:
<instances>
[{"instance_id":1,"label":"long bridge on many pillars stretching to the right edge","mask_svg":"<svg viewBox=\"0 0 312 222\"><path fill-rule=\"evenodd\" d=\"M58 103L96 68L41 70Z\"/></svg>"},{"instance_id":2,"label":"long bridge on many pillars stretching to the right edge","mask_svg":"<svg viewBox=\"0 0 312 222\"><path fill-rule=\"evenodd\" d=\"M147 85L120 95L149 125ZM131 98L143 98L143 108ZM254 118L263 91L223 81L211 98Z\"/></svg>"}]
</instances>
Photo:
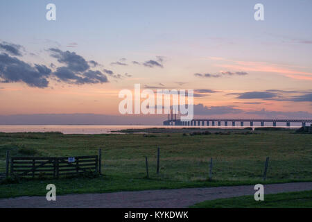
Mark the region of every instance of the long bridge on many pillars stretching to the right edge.
<instances>
[{"instance_id":1,"label":"long bridge on many pillars stretching to the right edge","mask_svg":"<svg viewBox=\"0 0 312 222\"><path fill-rule=\"evenodd\" d=\"M306 123L312 123L312 119L192 119L190 121L181 121L180 119L173 118L164 121L164 126L229 126L228 123L232 123L232 126L236 126L239 123L240 126L244 126L245 123L249 123L249 126L254 126L254 123L260 123L264 126L264 123L272 123L272 126L277 126L277 123L286 123L286 126L291 126L291 123L302 123L302 126L306 126ZM239 125L238 125L239 126Z\"/></svg>"}]
</instances>

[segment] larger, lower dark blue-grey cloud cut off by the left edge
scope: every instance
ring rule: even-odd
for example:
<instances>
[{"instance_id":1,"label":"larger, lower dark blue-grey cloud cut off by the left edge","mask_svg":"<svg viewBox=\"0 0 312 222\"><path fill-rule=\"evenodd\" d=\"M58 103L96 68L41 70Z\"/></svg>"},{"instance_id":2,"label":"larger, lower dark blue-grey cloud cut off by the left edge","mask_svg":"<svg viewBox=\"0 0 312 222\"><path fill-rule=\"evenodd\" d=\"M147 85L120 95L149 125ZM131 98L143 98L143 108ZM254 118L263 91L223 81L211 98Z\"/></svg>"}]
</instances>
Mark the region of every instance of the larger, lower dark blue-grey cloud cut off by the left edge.
<instances>
[{"instance_id":1,"label":"larger, lower dark blue-grey cloud cut off by the left edge","mask_svg":"<svg viewBox=\"0 0 312 222\"><path fill-rule=\"evenodd\" d=\"M10 57L7 53L0 54L0 78L2 83L24 82L31 87L44 88L49 85L47 78L51 69L45 65L34 66Z\"/></svg>"}]
</instances>

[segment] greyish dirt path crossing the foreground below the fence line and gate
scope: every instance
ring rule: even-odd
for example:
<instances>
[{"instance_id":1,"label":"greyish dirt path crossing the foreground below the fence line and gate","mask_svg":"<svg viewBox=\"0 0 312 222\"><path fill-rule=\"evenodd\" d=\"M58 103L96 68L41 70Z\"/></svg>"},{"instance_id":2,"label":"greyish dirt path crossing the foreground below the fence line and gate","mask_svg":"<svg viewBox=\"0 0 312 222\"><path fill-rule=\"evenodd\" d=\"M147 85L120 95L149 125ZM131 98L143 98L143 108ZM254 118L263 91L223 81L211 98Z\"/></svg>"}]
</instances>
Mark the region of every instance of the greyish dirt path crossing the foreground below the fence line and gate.
<instances>
[{"instance_id":1,"label":"greyish dirt path crossing the foreground below the fence line and gate","mask_svg":"<svg viewBox=\"0 0 312 222\"><path fill-rule=\"evenodd\" d=\"M265 185L264 194L311 190L312 182ZM203 200L253 195L254 186L123 191L109 194L70 194L47 201L45 196L0 199L0 207L188 207ZM266 198L266 196L264 196Z\"/></svg>"}]
</instances>

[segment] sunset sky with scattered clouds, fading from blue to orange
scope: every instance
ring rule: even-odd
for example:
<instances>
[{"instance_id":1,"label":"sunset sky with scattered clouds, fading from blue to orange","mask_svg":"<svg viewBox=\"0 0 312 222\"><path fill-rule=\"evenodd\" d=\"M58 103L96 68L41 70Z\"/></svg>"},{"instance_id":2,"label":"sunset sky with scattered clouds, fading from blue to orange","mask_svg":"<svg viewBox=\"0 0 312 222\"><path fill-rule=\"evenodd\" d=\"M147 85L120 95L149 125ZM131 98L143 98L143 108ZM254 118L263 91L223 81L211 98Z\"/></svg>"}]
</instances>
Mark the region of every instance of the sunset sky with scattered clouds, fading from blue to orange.
<instances>
[{"instance_id":1,"label":"sunset sky with scattered clouds, fading from blue to orange","mask_svg":"<svg viewBox=\"0 0 312 222\"><path fill-rule=\"evenodd\" d=\"M137 83L194 89L200 116L312 118L309 0L10 0L0 27L0 115L119 115Z\"/></svg>"}]
</instances>

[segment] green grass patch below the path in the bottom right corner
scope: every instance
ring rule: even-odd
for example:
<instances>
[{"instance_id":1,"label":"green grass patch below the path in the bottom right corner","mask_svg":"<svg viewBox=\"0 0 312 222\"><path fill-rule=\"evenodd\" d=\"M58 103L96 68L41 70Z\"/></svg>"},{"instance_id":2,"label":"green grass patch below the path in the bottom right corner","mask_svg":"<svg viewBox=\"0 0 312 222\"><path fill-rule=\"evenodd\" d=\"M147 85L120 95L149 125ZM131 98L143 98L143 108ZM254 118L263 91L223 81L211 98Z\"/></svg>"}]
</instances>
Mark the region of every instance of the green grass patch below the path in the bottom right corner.
<instances>
[{"instance_id":1,"label":"green grass patch below the path in the bottom right corner","mask_svg":"<svg viewBox=\"0 0 312 222\"><path fill-rule=\"evenodd\" d=\"M263 201L254 200L254 196L240 196L207 200L191 208L311 208L312 190L281 194L267 194Z\"/></svg>"}]
</instances>

